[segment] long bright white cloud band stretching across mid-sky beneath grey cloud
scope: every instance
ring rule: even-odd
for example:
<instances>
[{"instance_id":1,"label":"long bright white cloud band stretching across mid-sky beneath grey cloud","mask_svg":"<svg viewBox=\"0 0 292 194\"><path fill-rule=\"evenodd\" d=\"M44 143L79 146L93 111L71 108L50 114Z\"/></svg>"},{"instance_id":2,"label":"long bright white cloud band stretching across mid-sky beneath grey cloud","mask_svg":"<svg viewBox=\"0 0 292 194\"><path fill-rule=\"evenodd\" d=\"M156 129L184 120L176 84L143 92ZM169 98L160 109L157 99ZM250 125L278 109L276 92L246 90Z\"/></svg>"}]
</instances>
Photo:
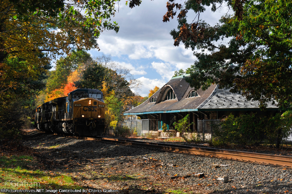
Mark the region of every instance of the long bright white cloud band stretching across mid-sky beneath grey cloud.
<instances>
[{"instance_id":1,"label":"long bright white cloud band stretching across mid-sky beneath grey cloud","mask_svg":"<svg viewBox=\"0 0 292 194\"><path fill-rule=\"evenodd\" d=\"M187 69L196 57L191 49L185 49L183 45L173 46L173 40L140 41L123 39L121 37L107 36L100 38L99 46L103 53L111 54L114 57L128 56L131 60L156 58L173 64L174 70Z\"/></svg>"}]
</instances>

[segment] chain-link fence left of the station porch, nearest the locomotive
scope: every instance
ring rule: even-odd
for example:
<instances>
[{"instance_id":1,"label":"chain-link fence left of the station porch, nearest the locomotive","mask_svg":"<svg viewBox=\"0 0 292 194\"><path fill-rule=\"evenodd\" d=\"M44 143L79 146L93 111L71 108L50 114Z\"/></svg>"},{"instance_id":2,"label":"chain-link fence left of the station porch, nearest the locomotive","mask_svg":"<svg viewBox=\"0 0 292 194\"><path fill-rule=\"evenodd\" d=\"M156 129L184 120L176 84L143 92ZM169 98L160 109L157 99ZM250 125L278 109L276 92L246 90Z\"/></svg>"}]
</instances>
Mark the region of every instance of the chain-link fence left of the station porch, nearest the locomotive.
<instances>
[{"instance_id":1,"label":"chain-link fence left of the station porch, nearest the locomotive","mask_svg":"<svg viewBox=\"0 0 292 194\"><path fill-rule=\"evenodd\" d=\"M158 120L154 119L141 119L141 120L129 120L126 122L119 122L122 127L128 127L129 129L137 132L137 135L149 133L149 131L158 130Z\"/></svg>"}]
</instances>

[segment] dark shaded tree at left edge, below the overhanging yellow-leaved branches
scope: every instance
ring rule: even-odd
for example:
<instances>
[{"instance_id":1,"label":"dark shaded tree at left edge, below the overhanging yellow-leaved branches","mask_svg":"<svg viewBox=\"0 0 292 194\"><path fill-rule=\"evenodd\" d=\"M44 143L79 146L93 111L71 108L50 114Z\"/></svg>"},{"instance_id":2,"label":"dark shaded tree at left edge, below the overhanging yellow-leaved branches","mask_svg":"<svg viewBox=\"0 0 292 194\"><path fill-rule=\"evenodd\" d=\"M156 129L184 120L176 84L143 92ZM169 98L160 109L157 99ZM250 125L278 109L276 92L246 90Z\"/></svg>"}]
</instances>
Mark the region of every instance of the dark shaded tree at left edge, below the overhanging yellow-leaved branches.
<instances>
[{"instance_id":1,"label":"dark shaded tree at left edge, below the overhanging yellow-leaved branches","mask_svg":"<svg viewBox=\"0 0 292 194\"><path fill-rule=\"evenodd\" d=\"M28 64L24 59L10 58L5 67L6 70L0 72L0 144L14 140L13 146L17 146L20 137L18 129L25 121L29 123L33 120L33 99L44 87L42 80L51 66Z\"/></svg>"}]
</instances>

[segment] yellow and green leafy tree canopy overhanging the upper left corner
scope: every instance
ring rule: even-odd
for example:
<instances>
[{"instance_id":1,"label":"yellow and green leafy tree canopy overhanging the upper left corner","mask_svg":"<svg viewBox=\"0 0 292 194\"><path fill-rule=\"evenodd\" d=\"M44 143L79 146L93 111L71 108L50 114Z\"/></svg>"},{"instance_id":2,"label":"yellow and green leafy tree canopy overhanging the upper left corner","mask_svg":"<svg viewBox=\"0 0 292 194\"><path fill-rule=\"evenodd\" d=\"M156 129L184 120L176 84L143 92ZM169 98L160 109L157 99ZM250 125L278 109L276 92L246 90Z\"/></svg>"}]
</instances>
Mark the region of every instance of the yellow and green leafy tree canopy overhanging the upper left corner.
<instances>
[{"instance_id":1,"label":"yellow and green leafy tree canopy overhanging the upper left corner","mask_svg":"<svg viewBox=\"0 0 292 194\"><path fill-rule=\"evenodd\" d=\"M36 65L43 67L33 72L40 75L56 55L69 54L72 48L98 48L97 39L103 30L119 30L117 23L111 21L116 1L3 0L0 6L1 75L9 69L7 60L12 58L25 60L29 69ZM140 1L129 2L130 6L139 4ZM8 72L10 77L23 76L17 71ZM0 82L5 81L3 77L0 76ZM1 88L0 95L10 89L10 86Z\"/></svg>"}]
</instances>

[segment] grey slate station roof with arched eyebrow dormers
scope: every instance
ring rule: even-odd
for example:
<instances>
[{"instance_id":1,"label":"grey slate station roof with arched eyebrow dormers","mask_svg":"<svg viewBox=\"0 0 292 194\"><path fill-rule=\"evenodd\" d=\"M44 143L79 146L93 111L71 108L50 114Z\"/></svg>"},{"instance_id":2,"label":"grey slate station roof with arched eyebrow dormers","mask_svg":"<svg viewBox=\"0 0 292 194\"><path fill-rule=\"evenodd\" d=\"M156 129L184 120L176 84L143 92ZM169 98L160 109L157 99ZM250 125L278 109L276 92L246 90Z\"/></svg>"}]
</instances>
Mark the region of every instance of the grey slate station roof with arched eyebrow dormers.
<instances>
[{"instance_id":1,"label":"grey slate station roof with arched eyebrow dormers","mask_svg":"<svg viewBox=\"0 0 292 194\"><path fill-rule=\"evenodd\" d=\"M166 87L173 88L176 99L161 101ZM126 111L125 115L133 114L147 114L147 113L163 113L163 112L184 112L184 111L220 111L223 109L230 110L248 110L259 109L258 101L248 101L240 94L229 92L229 89L218 89L217 85L212 84L207 90L196 90L199 97L190 97L188 95L193 88L185 81L185 76L178 76L172 78L157 92L155 92L145 102L136 106L135 108ZM154 97L156 102L150 102L150 99ZM278 107L272 105L272 102L268 103L267 108Z\"/></svg>"}]
</instances>

